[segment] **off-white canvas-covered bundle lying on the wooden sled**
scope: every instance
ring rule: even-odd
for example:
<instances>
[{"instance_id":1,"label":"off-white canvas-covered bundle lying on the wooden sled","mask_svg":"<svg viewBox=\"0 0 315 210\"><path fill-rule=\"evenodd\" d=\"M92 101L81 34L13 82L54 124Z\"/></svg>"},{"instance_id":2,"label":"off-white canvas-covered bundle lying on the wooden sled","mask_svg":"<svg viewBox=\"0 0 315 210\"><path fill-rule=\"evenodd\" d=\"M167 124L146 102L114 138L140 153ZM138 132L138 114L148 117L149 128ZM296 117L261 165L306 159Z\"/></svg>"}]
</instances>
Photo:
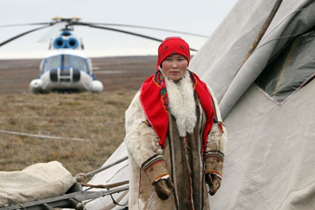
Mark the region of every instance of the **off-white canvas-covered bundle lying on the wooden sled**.
<instances>
[{"instance_id":1,"label":"off-white canvas-covered bundle lying on the wooden sled","mask_svg":"<svg viewBox=\"0 0 315 210\"><path fill-rule=\"evenodd\" d=\"M0 207L64 194L74 178L60 162L37 163L22 171L0 172Z\"/></svg>"}]
</instances>

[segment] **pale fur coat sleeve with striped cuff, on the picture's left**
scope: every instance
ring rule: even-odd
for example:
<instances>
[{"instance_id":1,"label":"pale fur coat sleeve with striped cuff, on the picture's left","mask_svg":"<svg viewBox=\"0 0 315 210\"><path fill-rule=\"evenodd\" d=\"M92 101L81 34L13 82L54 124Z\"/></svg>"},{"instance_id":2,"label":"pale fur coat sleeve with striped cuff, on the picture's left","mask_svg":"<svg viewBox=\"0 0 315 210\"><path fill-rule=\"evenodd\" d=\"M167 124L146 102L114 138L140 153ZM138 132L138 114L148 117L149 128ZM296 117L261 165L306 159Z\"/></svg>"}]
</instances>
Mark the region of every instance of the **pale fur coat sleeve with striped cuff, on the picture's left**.
<instances>
[{"instance_id":1,"label":"pale fur coat sleeve with striped cuff, on the picture's left","mask_svg":"<svg viewBox=\"0 0 315 210\"><path fill-rule=\"evenodd\" d=\"M169 178L162 148L158 144L158 136L147 122L142 109L140 91L136 93L129 108L126 110L125 143L132 163L141 168L151 184L160 179Z\"/></svg>"}]
</instances>

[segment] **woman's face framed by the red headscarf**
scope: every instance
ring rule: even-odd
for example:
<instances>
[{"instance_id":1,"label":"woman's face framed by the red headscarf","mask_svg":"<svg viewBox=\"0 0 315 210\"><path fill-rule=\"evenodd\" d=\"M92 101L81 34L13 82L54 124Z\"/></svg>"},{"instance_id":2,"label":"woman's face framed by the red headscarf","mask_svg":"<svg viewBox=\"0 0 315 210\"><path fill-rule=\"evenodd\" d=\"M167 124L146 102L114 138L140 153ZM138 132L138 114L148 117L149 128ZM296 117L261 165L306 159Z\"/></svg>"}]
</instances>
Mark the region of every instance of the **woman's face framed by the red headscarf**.
<instances>
[{"instance_id":1,"label":"woman's face framed by the red headscarf","mask_svg":"<svg viewBox=\"0 0 315 210\"><path fill-rule=\"evenodd\" d=\"M184 56L174 54L162 62L162 72L166 77L177 83L185 75L188 67L188 60Z\"/></svg>"}]
</instances>

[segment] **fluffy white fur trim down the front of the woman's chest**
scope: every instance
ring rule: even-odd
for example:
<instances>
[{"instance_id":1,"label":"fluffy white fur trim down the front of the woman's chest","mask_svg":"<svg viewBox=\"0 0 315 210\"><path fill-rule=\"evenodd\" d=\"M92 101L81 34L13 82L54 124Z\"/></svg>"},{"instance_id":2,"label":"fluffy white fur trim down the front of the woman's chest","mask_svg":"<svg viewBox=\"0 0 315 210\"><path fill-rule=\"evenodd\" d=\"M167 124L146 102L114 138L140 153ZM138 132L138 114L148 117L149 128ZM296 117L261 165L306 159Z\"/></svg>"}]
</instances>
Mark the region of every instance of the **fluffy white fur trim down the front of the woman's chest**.
<instances>
[{"instance_id":1,"label":"fluffy white fur trim down the front of the woman's chest","mask_svg":"<svg viewBox=\"0 0 315 210\"><path fill-rule=\"evenodd\" d=\"M177 130L181 137L192 133L196 125L196 104L193 97L194 90L189 72L175 84L165 76L165 84L169 100L169 111L176 119Z\"/></svg>"}]
</instances>

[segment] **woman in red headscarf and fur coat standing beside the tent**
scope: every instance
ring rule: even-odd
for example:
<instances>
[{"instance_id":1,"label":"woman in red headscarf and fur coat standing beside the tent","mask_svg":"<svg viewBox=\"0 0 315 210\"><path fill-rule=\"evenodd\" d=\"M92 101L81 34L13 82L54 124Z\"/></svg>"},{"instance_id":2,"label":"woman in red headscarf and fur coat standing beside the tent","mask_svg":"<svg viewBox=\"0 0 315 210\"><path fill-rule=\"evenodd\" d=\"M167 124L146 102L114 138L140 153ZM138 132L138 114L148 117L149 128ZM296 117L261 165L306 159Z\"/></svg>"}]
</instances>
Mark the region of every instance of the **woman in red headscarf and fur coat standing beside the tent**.
<instances>
[{"instance_id":1,"label":"woman in red headscarf and fur coat standing beside the tent","mask_svg":"<svg viewBox=\"0 0 315 210\"><path fill-rule=\"evenodd\" d=\"M189 45L168 37L157 72L126 111L129 209L210 209L221 185L226 132L207 84L189 71ZM216 107L216 108L215 108Z\"/></svg>"}]
</instances>

